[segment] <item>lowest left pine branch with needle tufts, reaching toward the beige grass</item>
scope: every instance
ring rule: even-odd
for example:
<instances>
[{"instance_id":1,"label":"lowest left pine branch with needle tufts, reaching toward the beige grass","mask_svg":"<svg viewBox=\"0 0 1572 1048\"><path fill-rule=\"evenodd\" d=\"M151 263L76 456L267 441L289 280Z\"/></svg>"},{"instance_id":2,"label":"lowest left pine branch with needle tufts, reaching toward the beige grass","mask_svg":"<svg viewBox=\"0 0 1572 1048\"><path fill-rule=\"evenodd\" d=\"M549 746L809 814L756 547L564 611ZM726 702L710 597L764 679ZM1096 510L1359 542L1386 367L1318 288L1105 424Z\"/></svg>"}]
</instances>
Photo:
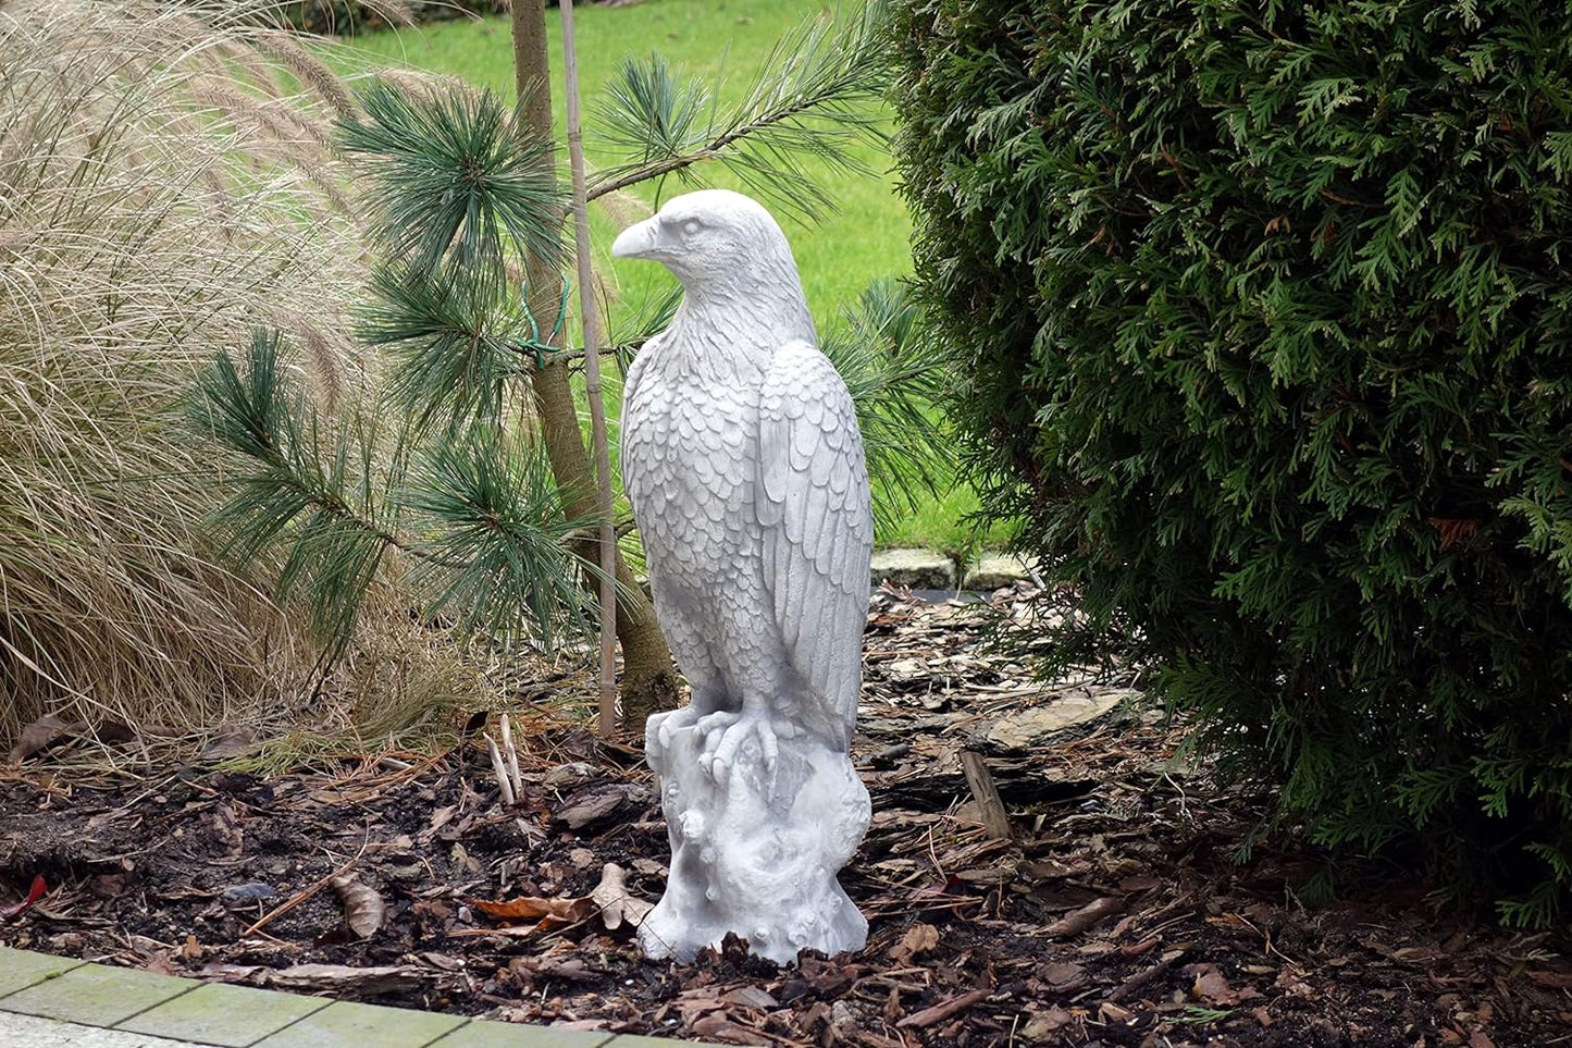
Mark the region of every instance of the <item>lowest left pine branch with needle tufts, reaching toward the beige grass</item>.
<instances>
[{"instance_id":1,"label":"lowest left pine branch with needle tufts, reaching toward the beige grass","mask_svg":"<svg viewBox=\"0 0 1572 1048\"><path fill-rule=\"evenodd\" d=\"M390 444L363 420L329 425L289 381L277 332L258 330L242 373L220 356L200 378L200 428L252 463L225 478L214 518L226 552L281 554L277 592L302 590L333 653L354 636L388 551L410 560L409 592L428 615L550 642L588 631L577 584L588 570L539 448L489 426Z\"/></svg>"}]
</instances>

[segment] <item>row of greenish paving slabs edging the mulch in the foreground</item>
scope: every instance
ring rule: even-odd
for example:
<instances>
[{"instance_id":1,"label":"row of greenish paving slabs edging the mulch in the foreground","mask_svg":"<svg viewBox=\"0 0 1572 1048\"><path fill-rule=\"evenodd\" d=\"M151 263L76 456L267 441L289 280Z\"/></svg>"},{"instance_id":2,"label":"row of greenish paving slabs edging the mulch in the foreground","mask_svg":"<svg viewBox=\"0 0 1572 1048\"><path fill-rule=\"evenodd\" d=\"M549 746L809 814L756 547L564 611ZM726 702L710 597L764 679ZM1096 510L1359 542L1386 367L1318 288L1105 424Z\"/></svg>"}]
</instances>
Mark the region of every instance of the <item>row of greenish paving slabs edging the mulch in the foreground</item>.
<instances>
[{"instance_id":1,"label":"row of greenish paving slabs edging the mulch in the foreground","mask_svg":"<svg viewBox=\"0 0 1572 1048\"><path fill-rule=\"evenodd\" d=\"M8 1015L208 1048L674 1048L684 1043L303 998L0 946L0 1045L6 1043Z\"/></svg>"}]
</instances>

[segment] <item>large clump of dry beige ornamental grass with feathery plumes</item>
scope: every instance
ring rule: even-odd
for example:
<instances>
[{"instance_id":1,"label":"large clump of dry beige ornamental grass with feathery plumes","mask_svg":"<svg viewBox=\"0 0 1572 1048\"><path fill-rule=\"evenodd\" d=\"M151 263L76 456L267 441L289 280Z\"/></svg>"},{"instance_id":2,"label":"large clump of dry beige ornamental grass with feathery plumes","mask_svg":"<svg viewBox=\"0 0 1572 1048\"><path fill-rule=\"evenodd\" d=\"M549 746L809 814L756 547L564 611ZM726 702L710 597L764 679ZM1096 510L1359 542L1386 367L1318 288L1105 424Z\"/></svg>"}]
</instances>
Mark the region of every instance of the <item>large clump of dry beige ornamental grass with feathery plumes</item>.
<instances>
[{"instance_id":1,"label":"large clump of dry beige ornamental grass with feathery plumes","mask_svg":"<svg viewBox=\"0 0 1572 1048\"><path fill-rule=\"evenodd\" d=\"M203 540L215 459L182 406L258 323L305 348L291 367L322 404L358 386L336 318L360 252L327 145L351 98L253 16L0 3L6 744L46 713L179 732L322 686L297 617Z\"/></svg>"}]
</instances>

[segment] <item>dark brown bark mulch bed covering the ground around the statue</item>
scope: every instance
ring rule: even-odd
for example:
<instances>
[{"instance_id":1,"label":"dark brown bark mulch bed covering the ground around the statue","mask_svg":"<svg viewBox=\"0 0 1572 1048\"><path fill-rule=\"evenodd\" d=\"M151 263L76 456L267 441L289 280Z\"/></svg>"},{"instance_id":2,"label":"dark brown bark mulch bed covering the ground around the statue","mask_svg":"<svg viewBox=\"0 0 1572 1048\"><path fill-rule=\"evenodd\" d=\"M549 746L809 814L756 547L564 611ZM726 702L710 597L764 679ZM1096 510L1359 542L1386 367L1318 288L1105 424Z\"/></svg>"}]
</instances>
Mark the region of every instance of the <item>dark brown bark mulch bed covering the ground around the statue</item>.
<instances>
[{"instance_id":1,"label":"dark brown bark mulch bed covering the ground around the statue","mask_svg":"<svg viewBox=\"0 0 1572 1048\"><path fill-rule=\"evenodd\" d=\"M876 601L855 746L874 823L843 873L871 922L858 954L781 969L740 949L643 960L586 897L607 862L659 897L649 773L542 710L520 716L511 809L478 738L269 779L201 763L83 777L57 744L0 773L0 914L35 876L49 889L0 922L0 943L725 1043L1572 1043L1566 935L1503 932L1402 872L1281 842L1239 861L1259 806L1176 760L1182 725L1119 708L989 746L1001 716L1066 691L981 653L989 615L1022 609ZM1012 840L978 823L967 746L989 752ZM536 916L476 905L517 899ZM360 938L349 916L380 927Z\"/></svg>"}]
</instances>

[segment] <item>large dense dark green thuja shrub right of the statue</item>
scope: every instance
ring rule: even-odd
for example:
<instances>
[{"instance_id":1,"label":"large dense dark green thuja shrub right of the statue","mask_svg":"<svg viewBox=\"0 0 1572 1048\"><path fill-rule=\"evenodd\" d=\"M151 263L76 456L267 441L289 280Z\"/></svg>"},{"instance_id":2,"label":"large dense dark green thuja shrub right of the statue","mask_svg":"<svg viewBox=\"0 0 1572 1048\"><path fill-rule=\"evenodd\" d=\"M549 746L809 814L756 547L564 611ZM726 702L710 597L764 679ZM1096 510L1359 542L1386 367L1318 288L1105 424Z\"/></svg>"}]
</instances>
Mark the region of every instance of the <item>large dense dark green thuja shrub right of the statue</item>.
<instances>
[{"instance_id":1,"label":"large dense dark green thuja shrub right of the statue","mask_svg":"<svg viewBox=\"0 0 1572 1048\"><path fill-rule=\"evenodd\" d=\"M987 510L1328 845L1572 891L1572 8L899 0Z\"/></svg>"}]
</instances>

